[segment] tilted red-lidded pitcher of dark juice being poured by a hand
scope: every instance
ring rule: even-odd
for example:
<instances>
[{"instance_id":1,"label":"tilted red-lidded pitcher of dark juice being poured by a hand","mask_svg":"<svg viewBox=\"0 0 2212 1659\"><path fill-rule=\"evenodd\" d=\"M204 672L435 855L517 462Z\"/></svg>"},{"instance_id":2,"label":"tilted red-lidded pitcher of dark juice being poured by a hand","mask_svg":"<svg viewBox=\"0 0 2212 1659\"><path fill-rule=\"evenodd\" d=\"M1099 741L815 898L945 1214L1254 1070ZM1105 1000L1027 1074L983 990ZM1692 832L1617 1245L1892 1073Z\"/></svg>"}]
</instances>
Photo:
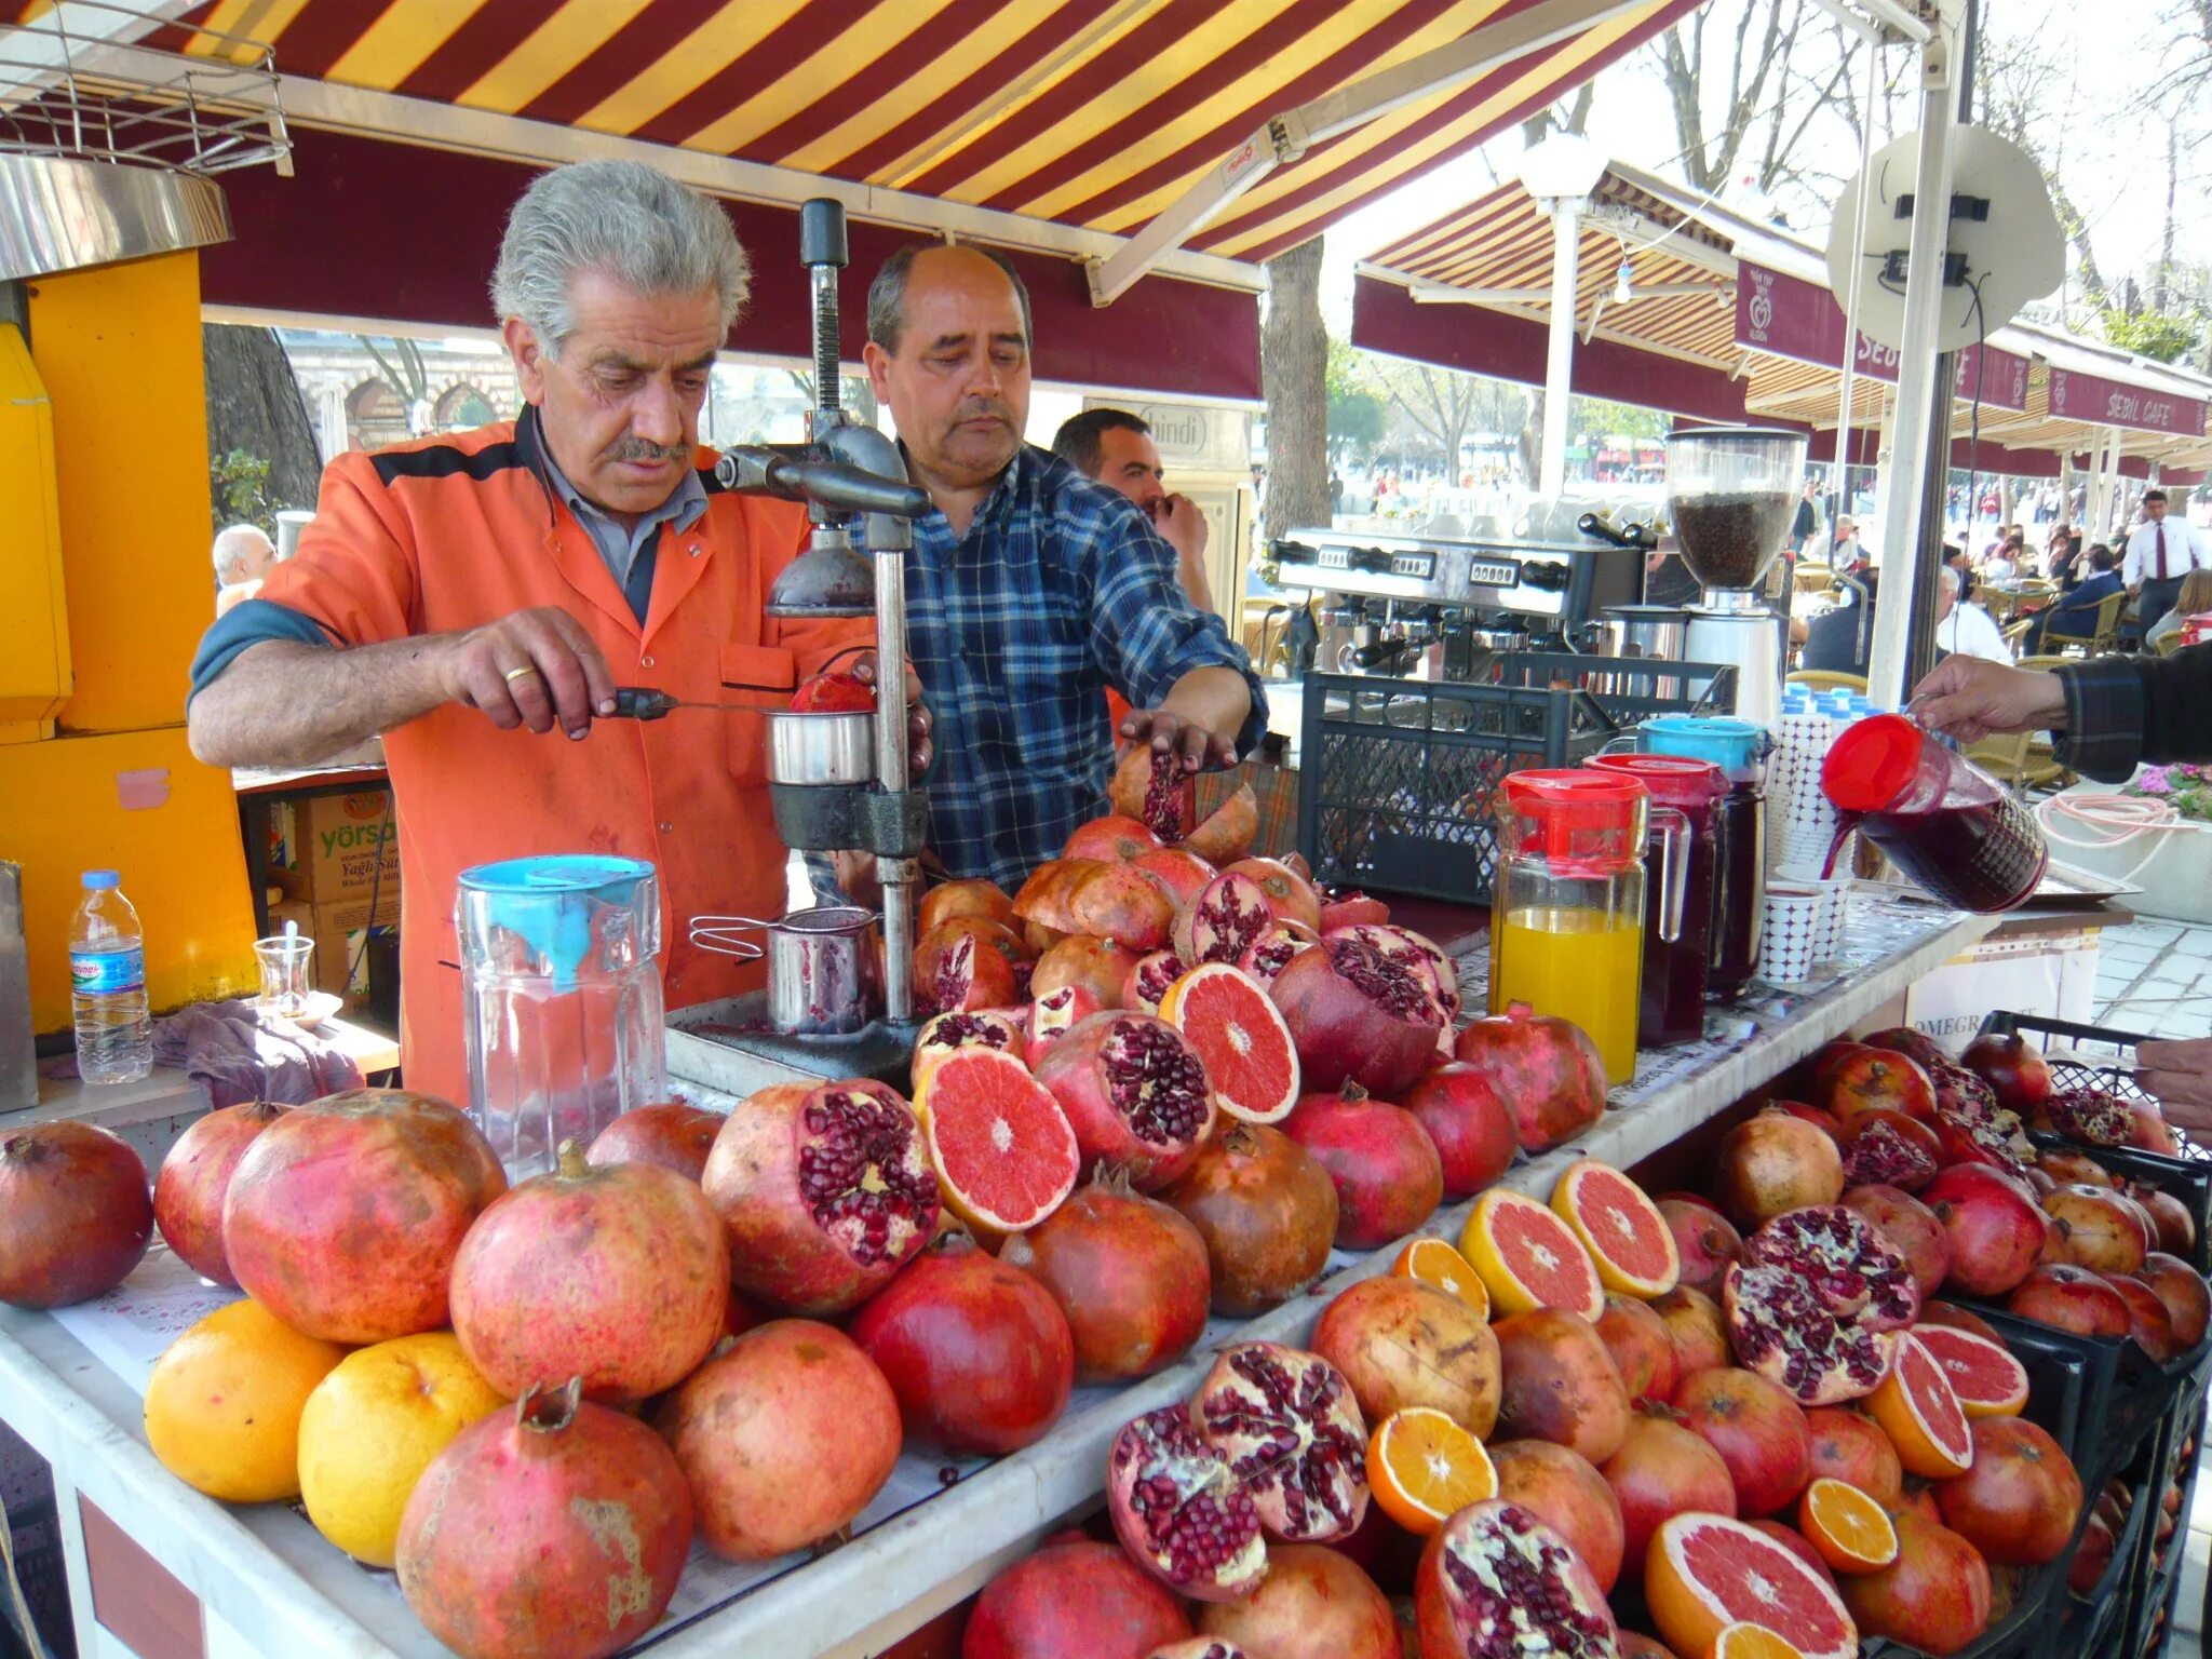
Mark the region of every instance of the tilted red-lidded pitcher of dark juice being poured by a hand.
<instances>
[{"instance_id":1,"label":"tilted red-lidded pitcher of dark juice being poured by a hand","mask_svg":"<svg viewBox=\"0 0 2212 1659\"><path fill-rule=\"evenodd\" d=\"M1953 909L2013 909L2042 885L2051 863L2035 816L1902 714L1845 726L1820 763L1820 787L1845 818L1843 834L1863 830L1889 863Z\"/></svg>"}]
</instances>

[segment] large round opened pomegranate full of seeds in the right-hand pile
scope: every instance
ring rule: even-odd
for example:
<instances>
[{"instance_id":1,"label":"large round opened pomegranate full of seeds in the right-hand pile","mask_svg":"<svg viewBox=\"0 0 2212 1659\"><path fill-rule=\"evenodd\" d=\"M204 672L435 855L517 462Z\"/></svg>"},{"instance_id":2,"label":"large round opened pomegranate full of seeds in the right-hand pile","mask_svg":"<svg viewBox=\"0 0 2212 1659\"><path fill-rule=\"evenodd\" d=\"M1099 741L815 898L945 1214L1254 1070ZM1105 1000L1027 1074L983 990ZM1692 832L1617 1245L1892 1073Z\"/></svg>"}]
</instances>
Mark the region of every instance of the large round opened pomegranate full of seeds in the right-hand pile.
<instances>
[{"instance_id":1,"label":"large round opened pomegranate full of seeds in the right-hand pile","mask_svg":"<svg viewBox=\"0 0 2212 1659\"><path fill-rule=\"evenodd\" d=\"M1778 1214L1743 1241L1721 1307L1739 1365L1798 1405L1858 1400L1889 1376L1920 1290L1905 1256L1840 1203Z\"/></svg>"}]
</instances>

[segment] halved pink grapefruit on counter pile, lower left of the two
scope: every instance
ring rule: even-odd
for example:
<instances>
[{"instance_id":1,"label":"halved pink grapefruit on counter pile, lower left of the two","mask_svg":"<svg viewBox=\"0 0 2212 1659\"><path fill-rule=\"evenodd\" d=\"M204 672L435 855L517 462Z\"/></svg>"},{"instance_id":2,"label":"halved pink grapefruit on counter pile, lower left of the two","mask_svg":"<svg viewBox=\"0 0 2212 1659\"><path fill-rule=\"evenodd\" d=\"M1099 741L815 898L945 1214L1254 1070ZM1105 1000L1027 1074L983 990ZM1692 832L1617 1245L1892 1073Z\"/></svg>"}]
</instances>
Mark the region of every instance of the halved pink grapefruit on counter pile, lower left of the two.
<instances>
[{"instance_id":1,"label":"halved pink grapefruit on counter pile, lower left of the two","mask_svg":"<svg viewBox=\"0 0 2212 1659\"><path fill-rule=\"evenodd\" d=\"M1020 1232L1075 1190L1075 1126L1029 1066L1000 1048L956 1048L916 1088L945 1208L984 1232Z\"/></svg>"}]
</instances>

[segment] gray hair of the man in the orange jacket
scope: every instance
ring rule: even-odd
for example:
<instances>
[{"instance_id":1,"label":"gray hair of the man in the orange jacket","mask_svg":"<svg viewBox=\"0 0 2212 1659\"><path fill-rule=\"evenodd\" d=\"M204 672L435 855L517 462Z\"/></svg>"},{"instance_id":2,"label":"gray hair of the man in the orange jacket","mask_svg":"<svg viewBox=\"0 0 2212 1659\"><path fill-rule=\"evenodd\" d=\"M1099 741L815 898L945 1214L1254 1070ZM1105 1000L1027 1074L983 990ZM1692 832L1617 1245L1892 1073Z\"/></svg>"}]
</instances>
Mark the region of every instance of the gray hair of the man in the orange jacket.
<instances>
[{"instance_id":1,"label":"gray hair of the man in the orange jacket","mask_svg":"<svg viewBox=\"0 0 2212 1659\"><path fill-rule=\"evenodd\" d=\"M575 332L568 285L597 270L635 294L712 288L721 327L752 292L752 261L730 215L641 161L575 161L538 175L507 215L491 310L520 316L555 354Z\"/></svg>"}]
</instances>

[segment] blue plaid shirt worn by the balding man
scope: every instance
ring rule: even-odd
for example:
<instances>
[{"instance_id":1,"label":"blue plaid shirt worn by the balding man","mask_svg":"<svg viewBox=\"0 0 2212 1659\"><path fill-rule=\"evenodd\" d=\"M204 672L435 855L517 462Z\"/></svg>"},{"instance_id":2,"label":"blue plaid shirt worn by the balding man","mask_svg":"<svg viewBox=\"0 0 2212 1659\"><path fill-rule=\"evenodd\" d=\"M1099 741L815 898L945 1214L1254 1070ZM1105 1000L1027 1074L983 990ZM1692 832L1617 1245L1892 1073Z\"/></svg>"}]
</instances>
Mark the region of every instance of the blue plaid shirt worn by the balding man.
<instances>
[{"instance_id":1,"label":"blue plaid shirt worn by the balding man","mask_svg":"<svg viewBox=\"0 0 2212 1659\"><path fill-rule=\"evenodd\" d=\"M953 876L1009 894L1106 810L1106 688L1157 708L1192 668L1252 686L1250 752L1267 699L1221 619L1190 604L1175 551L1126 498L1022 447L964 538L914 522L907 646L936 714L929 845Z\"/></svg>"}]
</instances>

